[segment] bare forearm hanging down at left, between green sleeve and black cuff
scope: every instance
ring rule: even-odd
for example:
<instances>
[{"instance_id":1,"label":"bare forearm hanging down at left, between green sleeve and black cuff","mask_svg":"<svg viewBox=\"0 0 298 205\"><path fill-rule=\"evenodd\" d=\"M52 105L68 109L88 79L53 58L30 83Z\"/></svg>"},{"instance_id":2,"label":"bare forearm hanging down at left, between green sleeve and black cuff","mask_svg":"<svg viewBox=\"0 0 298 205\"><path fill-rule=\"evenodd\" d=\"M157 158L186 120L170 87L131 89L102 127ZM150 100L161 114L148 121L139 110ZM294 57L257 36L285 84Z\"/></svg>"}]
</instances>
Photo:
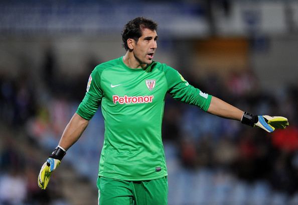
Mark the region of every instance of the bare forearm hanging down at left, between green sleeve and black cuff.
<instances>
[{"instance_id":1,"label":"bare forearm hanging down at left, between green sleeve and black cuff","mask_svg":"<svg viewBox=\"0 0 298 205\"><path fill-rule=\"evenodd\" d=\"M65 150L70 148L81 137L88 123L88 120L75 113L62 134L59 146Z\"/></svg>"}]
</instances>

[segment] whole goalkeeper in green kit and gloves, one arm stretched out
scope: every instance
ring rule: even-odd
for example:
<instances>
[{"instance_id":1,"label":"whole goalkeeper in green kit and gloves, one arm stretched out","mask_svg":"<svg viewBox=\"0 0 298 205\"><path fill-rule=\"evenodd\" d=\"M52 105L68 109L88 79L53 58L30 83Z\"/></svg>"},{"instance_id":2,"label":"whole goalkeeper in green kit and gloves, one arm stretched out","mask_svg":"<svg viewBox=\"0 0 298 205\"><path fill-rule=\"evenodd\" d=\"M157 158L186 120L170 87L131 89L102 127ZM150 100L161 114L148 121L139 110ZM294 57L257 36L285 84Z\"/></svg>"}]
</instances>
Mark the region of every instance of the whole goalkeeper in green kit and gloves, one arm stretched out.
<instances>
[{"instance_id":1,"label":"whole goalkeeper in green kit and gloves, one arm stretched out","mask_svg":"<svg viewBox=\"0 0 298 205\"><path fill-rule=\"evenodd\" d=\"M66 150L81 136L101 105L105 122L98 173L99 204L167 204L168 180L161 125L165 96L267 132L285 128L283 117L253 116L190 85L175 69L153 61L157 24L142 17L122 32L126 53L92 71L87 92L44 163L38 184L48 185Z\"/></svg>"}]
</instances>

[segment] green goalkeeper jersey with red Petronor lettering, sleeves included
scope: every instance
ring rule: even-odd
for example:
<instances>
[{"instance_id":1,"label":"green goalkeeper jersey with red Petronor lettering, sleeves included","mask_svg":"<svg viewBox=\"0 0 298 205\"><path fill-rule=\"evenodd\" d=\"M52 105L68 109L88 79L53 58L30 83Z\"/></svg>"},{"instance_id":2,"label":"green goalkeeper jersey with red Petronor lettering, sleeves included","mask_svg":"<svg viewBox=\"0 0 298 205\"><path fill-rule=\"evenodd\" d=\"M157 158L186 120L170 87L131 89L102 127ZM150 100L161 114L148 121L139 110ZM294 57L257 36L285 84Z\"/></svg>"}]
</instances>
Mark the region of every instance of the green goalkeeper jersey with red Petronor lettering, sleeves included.
<instances>
[{"instance_id":1,"label":"green goalkeeper jersey with red Petronor lettering, sleeves included","mask_svg":"<svg viewBox=\"0 0 298 205\"><path fill-rule=\"evenodd\" d=\"M132 69L120 57L94 68L77 114L90 120L101 105L105 133L99 176L136 181L168 175L162 142L167 93L204 111L211 101L211 95L159 62Z\"/></svg>"}]
</instances>

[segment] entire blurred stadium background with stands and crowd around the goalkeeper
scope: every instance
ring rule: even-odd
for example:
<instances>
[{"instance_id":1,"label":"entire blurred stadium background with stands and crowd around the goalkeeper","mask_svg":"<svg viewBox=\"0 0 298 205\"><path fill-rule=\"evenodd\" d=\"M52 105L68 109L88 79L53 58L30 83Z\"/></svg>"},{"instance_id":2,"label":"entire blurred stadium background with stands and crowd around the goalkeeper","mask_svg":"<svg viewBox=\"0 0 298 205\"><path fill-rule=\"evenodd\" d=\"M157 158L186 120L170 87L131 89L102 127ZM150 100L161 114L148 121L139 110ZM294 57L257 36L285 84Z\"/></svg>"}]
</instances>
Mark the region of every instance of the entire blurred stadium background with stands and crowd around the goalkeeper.
<instances>
[{"instance_id":1,"label":"entire blurred stadium background with stands and crowd around the goalkeeper","mask_svg":"<svg viewBox=\"0 0 298 205\"><path fill-rule=\"evenodd\" d=\"M46 191L37 175L95 65L124 55L121 30L159 23L156 55L193 85L254 114L267 134L168 97L169 204L298 204L297 1L1 1L0 204L96 204L101 112Z\"/></svg>"}]
</instances>

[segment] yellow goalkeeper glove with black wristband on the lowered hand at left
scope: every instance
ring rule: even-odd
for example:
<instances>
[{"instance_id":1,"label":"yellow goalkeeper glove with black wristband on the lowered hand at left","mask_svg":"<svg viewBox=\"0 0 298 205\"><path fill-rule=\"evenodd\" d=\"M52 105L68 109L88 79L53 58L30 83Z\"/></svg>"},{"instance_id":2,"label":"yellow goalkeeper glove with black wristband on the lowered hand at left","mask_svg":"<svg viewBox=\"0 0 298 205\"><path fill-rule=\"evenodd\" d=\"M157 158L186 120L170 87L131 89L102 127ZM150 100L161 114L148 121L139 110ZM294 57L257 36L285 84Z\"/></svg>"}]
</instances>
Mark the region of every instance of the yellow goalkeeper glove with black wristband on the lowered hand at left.
<instances>
[{"instance_id":1,"label":"yellow goalkeeper glove with black wristband on the lowered hand at left","mask_svg":"<svg viewBox=\"0 0 298 205\"><path fill-rule=\"evenodd\" d=\"M65 154L66 151L58 145L47 161L43 164L38 175L38 186L41 189L47 188L52 172L60 165Z\"/></svg>"}]
</instances>

